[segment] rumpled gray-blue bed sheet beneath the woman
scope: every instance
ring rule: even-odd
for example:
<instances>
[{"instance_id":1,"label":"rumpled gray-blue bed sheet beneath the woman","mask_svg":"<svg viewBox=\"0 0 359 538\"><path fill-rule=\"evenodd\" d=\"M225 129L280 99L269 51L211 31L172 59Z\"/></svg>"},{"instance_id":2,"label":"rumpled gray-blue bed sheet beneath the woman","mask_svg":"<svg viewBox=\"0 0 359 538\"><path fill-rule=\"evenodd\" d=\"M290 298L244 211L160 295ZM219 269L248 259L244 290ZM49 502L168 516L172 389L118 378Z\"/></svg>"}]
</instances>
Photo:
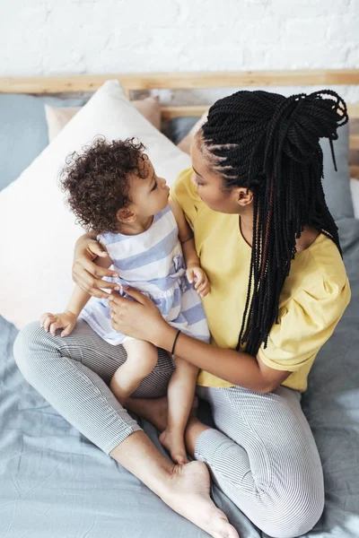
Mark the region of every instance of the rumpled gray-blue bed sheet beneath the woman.
<instances>
[{"instance_id":1,"label":"rumpled gray-blue bed sheet beneath the woman","mask_svg":"<svg viewBox=\"0 0 359 538\"><path fill-rule=\"evenodd\" d=\"M302 405L320 449L326 506L308 537L359 536L359 221L338 222L352 302L320 351ZM22 378L0 320L0 538L204 538L71 427ZM208 409L201 417L210 421ZM158 447L157 433L142 421ZM162 449L160 447L160 449ZM241 538L266 536L215 486Z\"/></svg>"}]
</instances>

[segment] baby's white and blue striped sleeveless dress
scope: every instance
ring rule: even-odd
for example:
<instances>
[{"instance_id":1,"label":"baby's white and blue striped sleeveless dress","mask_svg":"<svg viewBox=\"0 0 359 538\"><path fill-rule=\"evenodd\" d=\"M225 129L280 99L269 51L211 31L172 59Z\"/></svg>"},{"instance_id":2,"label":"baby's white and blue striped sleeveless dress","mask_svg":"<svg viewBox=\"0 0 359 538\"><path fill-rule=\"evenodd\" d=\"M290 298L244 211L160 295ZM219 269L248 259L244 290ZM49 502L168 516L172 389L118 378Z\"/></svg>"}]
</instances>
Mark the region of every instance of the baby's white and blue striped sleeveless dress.
<instances>
[{"instance_id":1,"label":"baby's white and blue striped sleeveless dress","mask_svg":"<svg viewBox=\"0 0 359 538\"><path fill-rule=\"evenodd\" d=\"M143 233L127 236L109 232L99 239L112 259L110 269L119 273L119 278L106 280L142 291L170 325L209 342L205 311L197 291L187 280L179 229L170 206L155 214L152 225ZM126 297L122 288L119 293ZM117 345L129 339L112 328L108 299L92 297L81 317L108 343Z\"/></svg>"}]
</instances>

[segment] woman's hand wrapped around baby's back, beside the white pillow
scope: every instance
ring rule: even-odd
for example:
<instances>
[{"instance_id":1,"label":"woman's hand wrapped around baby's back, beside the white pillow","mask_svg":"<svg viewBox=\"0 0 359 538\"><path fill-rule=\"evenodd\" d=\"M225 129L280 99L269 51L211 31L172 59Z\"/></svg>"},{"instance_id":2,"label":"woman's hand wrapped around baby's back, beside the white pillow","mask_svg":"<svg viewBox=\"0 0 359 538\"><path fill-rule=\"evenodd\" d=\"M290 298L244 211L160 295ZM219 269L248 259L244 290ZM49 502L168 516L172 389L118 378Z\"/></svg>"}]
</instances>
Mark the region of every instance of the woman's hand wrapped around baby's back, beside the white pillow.
<instances>
[{"instance_id":1,"label":"woman's hand wrapped around baby's back, beside the white pillow","mask_svg":"<svg viewBox=\"0 0 359 538\"><path fill-rule=\"evenodd\" d=\"M95 263L96 259L107 256L109 256L107 251L101 247L93 235L84 234L77 239L74 247L73 280L83 291L100 299L109 297L109 293L101 291L101 288L118 289L115 282L101 280L104 276L118 276L118 273Z\"/></svg>"}]
</instances>

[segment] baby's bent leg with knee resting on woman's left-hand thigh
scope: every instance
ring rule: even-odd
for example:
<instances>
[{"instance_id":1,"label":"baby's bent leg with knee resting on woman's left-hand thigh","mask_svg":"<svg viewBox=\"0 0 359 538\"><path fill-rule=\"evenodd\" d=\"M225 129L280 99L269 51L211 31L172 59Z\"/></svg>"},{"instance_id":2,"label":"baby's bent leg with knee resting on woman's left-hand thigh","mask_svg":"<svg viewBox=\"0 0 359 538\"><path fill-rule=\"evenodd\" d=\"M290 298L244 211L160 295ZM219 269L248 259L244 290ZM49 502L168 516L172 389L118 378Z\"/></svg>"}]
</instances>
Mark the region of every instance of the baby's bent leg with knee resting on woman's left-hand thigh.
<instances>
[{"instance_id":1,"label":"baby's bent leg with knee resting on woman's left-hand thigh","mask_svg":"<svg viewBox=\"0 0 359 538\"><path fill-rule=\"evenodd\" d=\"M109 383L109 388L121 405L125 404L144 377L152 372L158 358L157 349L152 343L127 340L123 346L127 351L127 360L116 370Z\"/></svg>"}]
</instances>

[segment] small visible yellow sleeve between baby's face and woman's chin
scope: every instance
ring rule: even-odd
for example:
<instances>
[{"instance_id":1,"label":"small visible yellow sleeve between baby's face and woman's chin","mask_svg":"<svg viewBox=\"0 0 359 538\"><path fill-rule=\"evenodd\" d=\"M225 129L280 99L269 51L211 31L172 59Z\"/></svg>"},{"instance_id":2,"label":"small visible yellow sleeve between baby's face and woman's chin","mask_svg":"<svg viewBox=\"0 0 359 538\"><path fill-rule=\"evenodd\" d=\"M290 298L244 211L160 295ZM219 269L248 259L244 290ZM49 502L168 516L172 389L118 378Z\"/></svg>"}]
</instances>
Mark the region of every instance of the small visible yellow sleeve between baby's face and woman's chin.
<instances>
[{"instance_id":1,"label":"small visible yellow sleeve between baby's face and woman's chin","mask_svg":"<svg viewBox=\"0 0 359 538\"><path fill-rule=\"evenodd\" d=\"M191 168L183 170L171 187L171 199L180 204L190 226L193 226L197 213L204 204L190 180L192 173Z\"/></svg>"}]
</instances>

